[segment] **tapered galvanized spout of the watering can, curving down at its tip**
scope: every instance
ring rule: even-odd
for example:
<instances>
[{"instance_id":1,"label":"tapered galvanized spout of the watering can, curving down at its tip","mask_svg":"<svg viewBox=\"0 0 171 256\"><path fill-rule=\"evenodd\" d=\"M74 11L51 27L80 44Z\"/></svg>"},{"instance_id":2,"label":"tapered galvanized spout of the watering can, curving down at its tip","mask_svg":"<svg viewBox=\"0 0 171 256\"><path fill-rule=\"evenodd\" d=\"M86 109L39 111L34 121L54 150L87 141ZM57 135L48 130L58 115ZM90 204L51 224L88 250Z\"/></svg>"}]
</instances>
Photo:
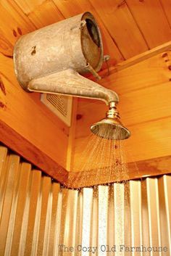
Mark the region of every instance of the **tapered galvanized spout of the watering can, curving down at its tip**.
<instances>
[{"instance_id":1,"label":"tapered galvanized spout of the watering can, curving down at its tip","mask_svg":"<svg viewBox=\"0 0 171 256\"><path fill-rule=\"evenodd\" d=\"M89 99L99 99L107 105L119 102L115 91L109 90L98 83L84 78L75 70L62 70L30 81L28 91L38 91L48 94L63 94Z\"/></svg>"}]
</instances>

